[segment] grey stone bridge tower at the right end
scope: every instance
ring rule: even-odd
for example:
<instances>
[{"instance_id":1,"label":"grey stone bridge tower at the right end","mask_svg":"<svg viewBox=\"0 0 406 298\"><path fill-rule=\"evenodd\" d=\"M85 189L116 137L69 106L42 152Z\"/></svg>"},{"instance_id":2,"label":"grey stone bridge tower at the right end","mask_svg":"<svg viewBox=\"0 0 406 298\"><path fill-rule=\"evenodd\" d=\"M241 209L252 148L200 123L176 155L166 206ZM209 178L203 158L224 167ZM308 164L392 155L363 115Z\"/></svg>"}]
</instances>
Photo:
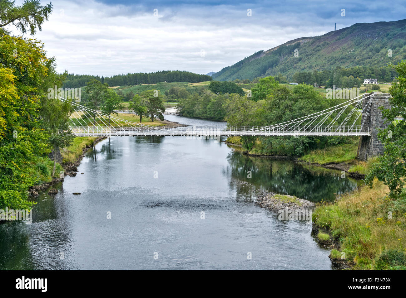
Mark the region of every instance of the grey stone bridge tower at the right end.
<instances>
[{"instance_id":1,"label":"grey stone bridge tower at the right end","mask_svg":"<svg viewBox=\"0 0 406 298\"><path fill-rule=\"evenodd\" d=\"M360 137L358 144L357 157L363 161L366 161L369 157L382 154L383 144L378 139L379 129L385 129L388 125L384 123L385 119L382 116L382 111L379 107L384 107L384 109L389 109L389 98L391 94L372 92L374 93L374 98L372 99L371 107L369 111L363 113L361 116L361 122L365 119L365 126L370 127L371 136ZM366 105L367 101L363 102L363 107Z\"/></svg>"}]
</instances>

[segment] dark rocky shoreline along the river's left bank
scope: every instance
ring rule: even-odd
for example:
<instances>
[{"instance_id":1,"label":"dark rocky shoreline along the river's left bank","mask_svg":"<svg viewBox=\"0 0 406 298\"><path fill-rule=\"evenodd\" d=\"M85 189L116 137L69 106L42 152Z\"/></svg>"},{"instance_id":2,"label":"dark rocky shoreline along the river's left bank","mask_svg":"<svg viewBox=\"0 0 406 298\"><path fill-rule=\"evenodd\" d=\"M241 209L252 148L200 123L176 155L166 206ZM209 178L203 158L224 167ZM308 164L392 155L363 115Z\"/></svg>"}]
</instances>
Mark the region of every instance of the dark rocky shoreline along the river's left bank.
<instances>
[{"instance_id":1,"label":"dark rocky shoreline along the river's left bank","mask_svg":"<svg viewBox=\"0 0 406 298\"><path fill-rule=\"evenodd\" d=\"M63 172L64 172L64 177L65 176L70 176L74 177L76 174L78 174L78 166L80 165L80 161L84 157L84 153L89 150L89 148L92 148L95 144L97 144L99 141L102 141L103 139L106 139L107 137L99 137L93 141L91 145L86 146L86 148L83 148L82 154L78 157L78 159L74 163L69 163L69 164L64 164L62 165L63 167ZM59 182L63 182L64 178L53 178L52 181L50 182L45 182L43 184L38 184L38 185L33 185L28 189L28 195L31 197L38 197L39 192L41 191L46 191L48 188L50 188L52 185L55 185ZM57 189L51 188L48 189L48 195L56 195L58 193Z\"/></svg>"}]
</instances>

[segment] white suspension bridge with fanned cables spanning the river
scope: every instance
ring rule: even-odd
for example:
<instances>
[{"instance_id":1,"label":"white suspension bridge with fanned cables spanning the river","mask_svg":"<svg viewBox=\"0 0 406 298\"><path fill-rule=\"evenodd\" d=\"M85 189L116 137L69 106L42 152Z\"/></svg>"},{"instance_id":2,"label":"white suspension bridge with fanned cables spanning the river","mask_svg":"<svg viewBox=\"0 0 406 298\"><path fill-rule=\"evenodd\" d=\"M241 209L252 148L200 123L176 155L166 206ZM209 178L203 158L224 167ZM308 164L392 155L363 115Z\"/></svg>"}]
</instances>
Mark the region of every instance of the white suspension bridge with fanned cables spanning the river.
<instances>
[{"instance_id":1,"label":"white suspension bridge with fanned cables spanning the river","mask_svg":"<svg viewBox=\"0 0 406 298\"><path fill-rule=\"evenodd\" d=\"M132 122L70 101L76 136L371 136L365 121L376 93L363 94L323 111L268 126L153 126Z\"/></svg>"}]
</instances>

